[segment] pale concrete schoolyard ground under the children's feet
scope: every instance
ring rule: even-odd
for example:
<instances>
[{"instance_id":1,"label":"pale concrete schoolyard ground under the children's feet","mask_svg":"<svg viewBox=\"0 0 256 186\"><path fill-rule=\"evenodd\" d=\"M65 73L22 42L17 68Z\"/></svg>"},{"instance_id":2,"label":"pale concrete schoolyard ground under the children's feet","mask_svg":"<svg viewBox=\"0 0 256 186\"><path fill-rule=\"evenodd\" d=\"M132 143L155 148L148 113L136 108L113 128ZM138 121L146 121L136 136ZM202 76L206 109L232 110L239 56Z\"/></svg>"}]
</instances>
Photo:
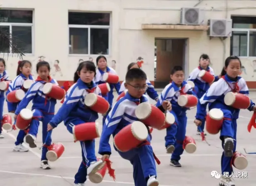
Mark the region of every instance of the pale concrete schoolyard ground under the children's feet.
<instances>
[{"instance_id":1,"label":"pale concrete schoolyard ground under the children's feet","mask_svg":"<svg viewBox=\"0 0 256 186\"><path fill-rule=\"evenodd\" d=\"M256 92L251 92L251 99L256 102ZM116 95L115 95L116 97ZM31 105L30 105L31 106ZM60 103L56 105L56 110ZM153 131L152 146L161 164L157 166L158 180L160 186L217 186L219 180L211 177L213 170L220 173L220 158L222 153L219 135L207 135L206 140L211 146L196 135L196 126L193 123L196 109L188 111L187 135L196 139L197 150L194 154L184 152L180 163L182 167L172 167L169 165L170 155L165 153L165 131ZM5 103L4 113L7 113ZM242 110L237 120L237 151L244 153L247 151L256 152L255 141L256 129L247 131L247 124L252 113ZM100 117L101 120L101 117ZM13 152L14 141L18 131L3 132L4 139L0 139L0 186L71 186L74 185L74 174L76 174L81 162L81 147L79 143L74 143L72 135L63 124L53 131L53 142L61 142L65 145L65 152L62 157L55 162L50 162L51 170L39 168L41 151L38 148L30 149L29 152ZM41 146L41 127L38 133L37 144ZM96 152L98 152L98 139L96 140ZM112 139L110 139L112 144ZM26 144L25 144L26 145ZM256 155L246 155L249 165L242 173L248 173L248 178L239 178L234 175L236 186L255 186L256 177ZM116 181L109 175L99 186L129 186L134 185L132 177L132 165L120 158L112 148L112 167L115 169ZM234 169L237 173L239 170ZM93 186L90 181L86 186Z\"/></svg>"}]
</instances>

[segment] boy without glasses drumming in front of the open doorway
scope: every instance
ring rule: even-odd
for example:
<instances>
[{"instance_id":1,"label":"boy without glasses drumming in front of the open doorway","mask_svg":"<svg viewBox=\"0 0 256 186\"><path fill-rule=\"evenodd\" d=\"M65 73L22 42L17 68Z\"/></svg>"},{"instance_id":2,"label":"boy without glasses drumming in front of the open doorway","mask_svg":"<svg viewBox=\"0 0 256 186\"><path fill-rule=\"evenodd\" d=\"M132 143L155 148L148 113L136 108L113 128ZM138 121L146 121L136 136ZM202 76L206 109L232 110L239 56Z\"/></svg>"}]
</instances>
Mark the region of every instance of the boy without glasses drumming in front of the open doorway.
<instances>
[{"instance_id":1,"label":"boy without glasses drumming in front of the open doorway","mask_svg":"<svg viewBox=\"0 0 256 186\"><path fill-rule=\"evenodd\" d=\"M182 155L184 151L182 144L186 135L186 112L188 108L179 106L177 99L182 93L193 95L195 95L195 93L192 87L184 81L184 72L181 66L175 66L172 69L171 79L172 82L163 89L156 106L160 106L165 100L170 101L172 104L171 113L175 117L175 125L171 125L166 129L165 147L167 153L172 153L170 165L181 167L179 160L180 155Z\"/></svg>"}]
</instances>

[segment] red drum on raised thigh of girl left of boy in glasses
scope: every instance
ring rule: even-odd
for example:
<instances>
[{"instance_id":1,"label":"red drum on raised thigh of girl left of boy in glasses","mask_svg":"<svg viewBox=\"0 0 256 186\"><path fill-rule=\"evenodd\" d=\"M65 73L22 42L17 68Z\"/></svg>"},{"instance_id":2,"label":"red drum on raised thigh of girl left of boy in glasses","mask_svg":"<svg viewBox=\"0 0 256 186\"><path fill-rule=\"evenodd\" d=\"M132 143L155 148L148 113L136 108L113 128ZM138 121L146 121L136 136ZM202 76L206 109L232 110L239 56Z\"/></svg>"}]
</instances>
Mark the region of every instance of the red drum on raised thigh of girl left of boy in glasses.
<instances>
[{"instance_id":1,"label":"red drum on raised thigh of girl left of boy in glasses","mask_svg":"<svg viewBox=\"0 0 256 186\"><path fill-rule=\"evenodd\" d=\"M100 137L102 125L98 122L87 122L72 128L74 141L88 141Z\"/></svg>"}]
</instances>

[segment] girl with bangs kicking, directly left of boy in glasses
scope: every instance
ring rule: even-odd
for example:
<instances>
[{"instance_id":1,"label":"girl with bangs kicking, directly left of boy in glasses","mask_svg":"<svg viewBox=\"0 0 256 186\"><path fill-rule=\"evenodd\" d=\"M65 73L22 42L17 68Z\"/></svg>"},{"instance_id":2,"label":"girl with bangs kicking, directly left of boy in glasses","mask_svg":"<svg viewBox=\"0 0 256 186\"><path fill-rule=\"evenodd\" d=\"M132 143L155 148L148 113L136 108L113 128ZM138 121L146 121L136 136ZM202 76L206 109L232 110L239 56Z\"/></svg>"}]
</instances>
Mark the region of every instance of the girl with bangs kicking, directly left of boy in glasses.
<instances>
[{"instance_id":1,"label":"girl with bangs kicking, directly left of boy in glasses","mask_svg":"<svg viewBox=\"0 0 256 186\"><path fill-rule=\"evenodd\" d=\"M95 122L98 113L84 106L84 99L87 94L94 92L101 95L100 89L93 82L96 74L96 66L91 61L81 62L74 74L74 85L69 88L65 102L60 107L57 114L50 120L48 131L57 127L64 120L67 130L73 134L72 127L85 122ZM77 186L84 186L86 175L94 174L102 165L103 161L98 161L95 156L95 141L80 141L82 148L82 162L74 183Z\"/></svg>"}]
</instances>

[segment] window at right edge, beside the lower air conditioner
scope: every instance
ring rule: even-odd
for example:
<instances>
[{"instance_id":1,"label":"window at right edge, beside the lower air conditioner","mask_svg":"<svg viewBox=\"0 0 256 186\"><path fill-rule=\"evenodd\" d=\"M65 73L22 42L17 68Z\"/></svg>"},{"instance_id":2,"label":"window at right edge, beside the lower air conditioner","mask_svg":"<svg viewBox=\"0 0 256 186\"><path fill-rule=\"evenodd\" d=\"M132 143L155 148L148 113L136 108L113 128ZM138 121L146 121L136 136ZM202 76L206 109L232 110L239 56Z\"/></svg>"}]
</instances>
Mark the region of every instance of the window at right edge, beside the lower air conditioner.
<instances>
[{"instance_id":1,"label":"window at right edge, beside the lower air conditioner","mask_svg":"<svg viewBox=\"0 0 256 186\"><path fill-rule=\"evenodd\" d=\"M256 17L232 16L230 54L240 57L256 57Z\"/></svg>"}]
</instances>

